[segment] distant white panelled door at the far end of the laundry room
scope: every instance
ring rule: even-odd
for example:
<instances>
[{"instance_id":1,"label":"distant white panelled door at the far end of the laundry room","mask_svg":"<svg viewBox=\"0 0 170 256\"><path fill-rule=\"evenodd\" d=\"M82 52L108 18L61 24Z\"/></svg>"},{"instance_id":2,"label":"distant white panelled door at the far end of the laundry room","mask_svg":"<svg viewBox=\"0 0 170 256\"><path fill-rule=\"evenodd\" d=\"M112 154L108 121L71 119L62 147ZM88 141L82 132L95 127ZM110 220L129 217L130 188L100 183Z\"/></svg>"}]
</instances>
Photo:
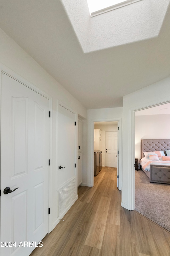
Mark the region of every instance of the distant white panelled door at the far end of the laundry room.
<instances>
[{"instance_id":1,"label":"distant white panelled door at the far end of the laundry room","mask_svg":"<svg viewBox=\"0 0 170 256\"><path fill-rule=\"evenodd\" d=\"M105 132L105 166L117 167L117 131Z\"/></svg>"}]
</instances>

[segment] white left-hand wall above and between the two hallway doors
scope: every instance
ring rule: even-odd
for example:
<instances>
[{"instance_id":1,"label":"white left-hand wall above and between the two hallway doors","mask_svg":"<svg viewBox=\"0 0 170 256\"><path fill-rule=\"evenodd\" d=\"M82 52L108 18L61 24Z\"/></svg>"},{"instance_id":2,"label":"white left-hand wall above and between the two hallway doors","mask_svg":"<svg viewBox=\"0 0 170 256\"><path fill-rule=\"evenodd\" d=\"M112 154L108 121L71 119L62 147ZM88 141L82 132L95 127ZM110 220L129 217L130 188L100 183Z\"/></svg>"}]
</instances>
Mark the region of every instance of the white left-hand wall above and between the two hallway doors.
<instances>
[{"instance_id":1,"label":"white left-hand wall above and between the two hallway doors","mask_svg":"<svg viewBox=\"0 0 170 256\"><path fill-rule=\"evenodd\" d=\"M0 63L19 74L21 77L51 95L52 105L52 203L50 205L51 223L54 228L57 220L57 99L76 111L81 117L87 118L87 110L53 77L51 77L36 61L34 61L19 45L0 29ZM3 69L3 65L2 69ZM87 140L85 134L84 140ZM84 150L86 151L86 145ZM87 163L87 162L86 162ZM87 164L86 164L87 165Z\"/></svg>"}]
</instances>

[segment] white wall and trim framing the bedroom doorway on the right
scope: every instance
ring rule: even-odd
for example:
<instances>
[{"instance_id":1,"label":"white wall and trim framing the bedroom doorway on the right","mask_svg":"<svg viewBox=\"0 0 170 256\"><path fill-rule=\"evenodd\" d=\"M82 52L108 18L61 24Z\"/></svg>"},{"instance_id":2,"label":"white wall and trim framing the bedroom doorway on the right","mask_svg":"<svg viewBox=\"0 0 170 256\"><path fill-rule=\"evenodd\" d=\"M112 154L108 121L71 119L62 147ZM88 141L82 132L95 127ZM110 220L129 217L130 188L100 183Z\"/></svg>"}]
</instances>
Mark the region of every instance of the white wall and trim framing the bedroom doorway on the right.
<instances>
[{"instance_id":1,"label":"white wall and trim framing the bedroom doorway on the right","mask_svg":"<svg viewBox=\"0 0 170 256\"><path fill-rule=\"evenodd\" d=\"M122 206L134 209L135 118L134 111L170 101L170 77L124 96Z\"/></svg>"}]
</instances>

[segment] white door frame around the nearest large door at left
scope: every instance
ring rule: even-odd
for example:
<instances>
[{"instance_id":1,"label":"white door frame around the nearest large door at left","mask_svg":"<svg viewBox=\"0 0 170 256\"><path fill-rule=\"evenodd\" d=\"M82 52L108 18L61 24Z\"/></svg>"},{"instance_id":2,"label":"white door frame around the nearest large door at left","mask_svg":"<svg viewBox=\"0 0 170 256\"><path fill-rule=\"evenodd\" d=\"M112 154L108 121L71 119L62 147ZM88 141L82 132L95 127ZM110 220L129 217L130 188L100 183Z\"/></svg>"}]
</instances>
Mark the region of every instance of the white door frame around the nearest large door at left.
<instances>
[{"instance_id":1,"label":"white door frame around the nearest large door at left","mask_svg":"<svg viewBox=\"0 0 170 256\"><path fill-rule=\"evenodd\" d=\"M45 97L46 99L49 100L49 111L51 114L50 115L51 117L49 119L49 159L52 160L52 97L49 94L45 93L44 91L42 91L42 90L38 89L37 87L35 87L34 85L32 85L29 81L27 81L20 75L16 74L14 71L9 69L2 63L0 63L0 71L4 74L10 76L11 78L15 79L16 81L22 83L23 85L27 86L31 90L35 91L36 93L42 95L43 97ZM1 89L1 81L0 81L0 89ZM0 93L1 93L1 90L0 90ZM0 106L1 106L1 95L0 95ZM0 119L1 119L1 114L0 114ZM1 126L0 126L0 133L1 133ZM0 138L0 140L1 140L1 138ZM0 141L0 145L1 145L1 141ZM1 152L0 152L0 154L1 154ZM0 159L0 161L1 161L1 159ZM1 166L1 162L0 162L0 166ZM52 169L52 167L49 166L49 191L46 191L49 194L49 207L50 207L50 205L52 205L52 186L50 186L52 184L51 169ZM0 174L1 174L1 172L0 172ZM1 177L0 177L0 181L1 181ZM1 182L0 182L0 185L1 185ZM51 221L52 221L51 214L49 214L49 219L48 219L48 232L49 233L50 233L50 231L52 231Z\"/></svg>"}]
</instances>

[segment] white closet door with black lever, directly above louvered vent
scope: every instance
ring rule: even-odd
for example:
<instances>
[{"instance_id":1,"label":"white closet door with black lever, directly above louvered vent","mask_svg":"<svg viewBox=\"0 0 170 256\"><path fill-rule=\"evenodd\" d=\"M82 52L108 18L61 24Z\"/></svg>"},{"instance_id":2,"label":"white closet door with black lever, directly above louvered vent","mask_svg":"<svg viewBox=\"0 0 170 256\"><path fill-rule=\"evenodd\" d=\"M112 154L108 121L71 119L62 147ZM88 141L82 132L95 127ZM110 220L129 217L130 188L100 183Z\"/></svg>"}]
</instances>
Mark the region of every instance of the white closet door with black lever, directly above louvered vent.
<instances>
[{"instance_id":1,"label":"white closet door with black lever, directly above louvered vent","mask_svg":"<svg viewBox=\"0 0 170 256\"><path fill-rule=\"evenodd\" d=\"M76 178L75 113L59 105L58 116L58 189Z\"/></svg>"}]
</instances>

